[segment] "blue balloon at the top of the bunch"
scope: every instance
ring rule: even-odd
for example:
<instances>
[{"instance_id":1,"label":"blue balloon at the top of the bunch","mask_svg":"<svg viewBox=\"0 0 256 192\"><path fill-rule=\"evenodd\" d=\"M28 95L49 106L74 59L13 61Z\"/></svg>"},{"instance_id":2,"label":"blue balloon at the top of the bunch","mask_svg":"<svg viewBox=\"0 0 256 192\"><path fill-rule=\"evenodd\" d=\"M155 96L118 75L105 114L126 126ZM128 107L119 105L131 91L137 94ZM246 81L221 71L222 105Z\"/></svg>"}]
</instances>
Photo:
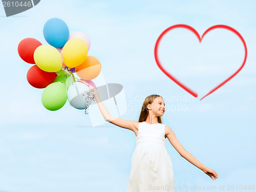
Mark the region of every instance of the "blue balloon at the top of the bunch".
<instances>
[{"instance_id":1,"label":"blue balloon at the top of the bunch","mask_svg":"<svg viewBox=\"0 0 256 192\"><path fill-rule=\"evenodd\" d=\"M44 26L44 37L48 44L62 48L69 40L69 27L59 18L49 19Z\"/></svg>"}]
</instances>

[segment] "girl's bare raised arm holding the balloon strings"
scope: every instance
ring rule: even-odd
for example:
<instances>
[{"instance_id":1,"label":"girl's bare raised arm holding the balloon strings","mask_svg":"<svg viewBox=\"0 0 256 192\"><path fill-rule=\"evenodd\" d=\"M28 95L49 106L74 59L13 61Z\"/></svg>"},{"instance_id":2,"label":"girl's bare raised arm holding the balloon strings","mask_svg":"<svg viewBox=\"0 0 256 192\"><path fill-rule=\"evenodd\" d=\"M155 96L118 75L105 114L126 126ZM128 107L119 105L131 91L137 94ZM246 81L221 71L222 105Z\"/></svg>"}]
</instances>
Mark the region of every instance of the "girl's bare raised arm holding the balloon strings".
<instances>
[{"instance_id":1,"label":"girl's bare raised arm holding the balloon strings","mask_svg":"<svg viewBox=\"0 0 256 192\"><path fill-rule=\"evenodd\" d=\"M120 126L122 128L132 130L136 135L136 133L138 132L139 122L132 121L132 120L125 120L125 119L121 119L121 118L112 116L109 113L109 111L105 108L104 104L102 103L97 89L95 89L92 86L90 86L89 88L93 90L95 99L99 106L99 110L100 110L102 116L104 117L105 121L108 121L108 122L115 124L117 126Z\"/></svg>"}]
</instances>

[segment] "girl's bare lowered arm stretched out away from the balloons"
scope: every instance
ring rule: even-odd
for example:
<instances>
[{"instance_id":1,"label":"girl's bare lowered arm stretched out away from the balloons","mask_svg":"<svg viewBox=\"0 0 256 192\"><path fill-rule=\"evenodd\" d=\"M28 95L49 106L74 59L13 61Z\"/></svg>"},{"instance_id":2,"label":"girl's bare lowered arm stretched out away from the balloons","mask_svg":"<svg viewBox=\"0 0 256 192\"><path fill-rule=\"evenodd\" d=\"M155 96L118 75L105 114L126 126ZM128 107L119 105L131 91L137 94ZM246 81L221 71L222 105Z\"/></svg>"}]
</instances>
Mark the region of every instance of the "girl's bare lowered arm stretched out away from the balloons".
<instances>
[{"instance_id":1,"label":"girl's bare lowered arm stretched out away from the balloons","mask_svg":"<svg viewBox=\"0 0 256 192\"><path fill-rule=\"evenodd\" d=\"M181 155L181 157L185 158L187 161L200 168L205 174L207 174L212 180L218 179L219 175L200 161L198 161L193 155L191 155L185 148L180 144L178 139L176 138L172 129L169 126L165 125L165 134L168 138L170 144L174 146L176 151Z\"/></svg>"}]
</instances>

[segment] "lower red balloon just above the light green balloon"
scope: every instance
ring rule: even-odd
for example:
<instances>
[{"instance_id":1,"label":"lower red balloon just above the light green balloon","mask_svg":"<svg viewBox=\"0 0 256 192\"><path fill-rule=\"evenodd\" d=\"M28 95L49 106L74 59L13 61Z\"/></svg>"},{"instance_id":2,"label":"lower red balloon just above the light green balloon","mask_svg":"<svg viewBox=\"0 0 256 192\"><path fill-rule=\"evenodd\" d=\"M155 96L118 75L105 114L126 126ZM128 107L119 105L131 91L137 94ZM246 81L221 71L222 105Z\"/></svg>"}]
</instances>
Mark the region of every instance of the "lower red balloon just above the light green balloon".
<instances>
[{"instance_id":1,"label":"lower red balloon just above the light green balloon","mask_svg":"<svg viewBox=\"0 0 256 192\"><path fill-rule=\"evenodd\" d=\"M49 84L53 83L57 74L55 72L42 71L37 65L32 66L27 73L29 84L34 88L46 88Z\"/></svg>"}]
</instances>

